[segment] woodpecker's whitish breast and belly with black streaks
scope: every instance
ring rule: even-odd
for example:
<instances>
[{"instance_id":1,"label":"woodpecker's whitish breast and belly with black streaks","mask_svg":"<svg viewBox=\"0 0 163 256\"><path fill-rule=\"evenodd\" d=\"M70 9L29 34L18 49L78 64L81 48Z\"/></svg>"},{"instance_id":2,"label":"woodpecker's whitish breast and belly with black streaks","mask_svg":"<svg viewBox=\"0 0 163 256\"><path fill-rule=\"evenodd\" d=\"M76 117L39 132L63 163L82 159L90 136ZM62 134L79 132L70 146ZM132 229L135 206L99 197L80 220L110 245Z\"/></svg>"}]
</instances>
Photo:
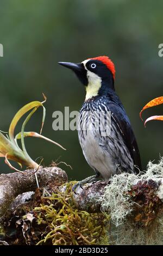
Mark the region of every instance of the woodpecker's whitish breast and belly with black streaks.
<instances>
[{"instance_id":1,"label":"woodpecker's whitish breast and belly with black streaks","mask_svg":"<svg viewBox=\"0 0 163 256\"><path fill-rule=\"evenodd\" d=\"M115 118L115 113L111 111L109 105L112 109L112 102L109 104L108 99L103 97L85 102L78 121L79 142L85 159L106 180L111 174L123 171L134 172L135 164L125 142L121 122L116 121L117 117ZM110 119L107 119L109 114ZM101 130L103 126L99 125L100 116L103 117L105 129L109 126L109 135L105 134L104 129Z\"/></svg>"}]
</instances>

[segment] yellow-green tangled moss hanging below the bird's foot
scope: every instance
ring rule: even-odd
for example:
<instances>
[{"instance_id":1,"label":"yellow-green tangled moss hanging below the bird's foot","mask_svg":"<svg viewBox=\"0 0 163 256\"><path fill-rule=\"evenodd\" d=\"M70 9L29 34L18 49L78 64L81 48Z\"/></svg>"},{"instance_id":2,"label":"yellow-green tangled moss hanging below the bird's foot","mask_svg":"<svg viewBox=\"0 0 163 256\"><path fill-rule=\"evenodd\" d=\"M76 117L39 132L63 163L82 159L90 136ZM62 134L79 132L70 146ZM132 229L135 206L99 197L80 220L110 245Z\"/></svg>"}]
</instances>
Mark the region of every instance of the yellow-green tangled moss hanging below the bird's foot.
<instances>
[{"instance_id":1,"label":"yellow-green tangled moss hanging below the bird's foot","mask_svg":"<svg viewBox=\"0 0 163 256\"><path fill-rule=\"evenodd\" d=\"M109 216L76 209L71 196L72 182L66 186L64 193L42 198L41 206L34 209L37 224L47 225L37 245L108 245Z\"/></svg>"}]
</instances>

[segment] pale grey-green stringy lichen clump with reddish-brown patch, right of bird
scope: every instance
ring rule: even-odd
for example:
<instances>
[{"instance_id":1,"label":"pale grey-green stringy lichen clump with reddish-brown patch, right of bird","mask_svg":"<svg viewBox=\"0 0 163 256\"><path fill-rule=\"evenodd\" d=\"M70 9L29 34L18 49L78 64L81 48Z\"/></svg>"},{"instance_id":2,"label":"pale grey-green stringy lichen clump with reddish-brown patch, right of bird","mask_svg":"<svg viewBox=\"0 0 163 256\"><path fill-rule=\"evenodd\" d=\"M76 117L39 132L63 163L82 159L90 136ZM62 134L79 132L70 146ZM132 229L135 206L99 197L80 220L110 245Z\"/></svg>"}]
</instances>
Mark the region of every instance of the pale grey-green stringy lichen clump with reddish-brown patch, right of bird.
<instances>
[{"instance_id":1,"label":"pale grey-green stringy lichen clump with reddish-brown patch, right of bird","mask_svg":"<svg viewBox=\"0 0 163 256\"><path fill-rule=\"evenodd\" d=\"M109 212L110 243L117 245L161 245L163 243L163 158L149 162L143 173L115 175L99 199Z\"/></svg>"}]
</instances>

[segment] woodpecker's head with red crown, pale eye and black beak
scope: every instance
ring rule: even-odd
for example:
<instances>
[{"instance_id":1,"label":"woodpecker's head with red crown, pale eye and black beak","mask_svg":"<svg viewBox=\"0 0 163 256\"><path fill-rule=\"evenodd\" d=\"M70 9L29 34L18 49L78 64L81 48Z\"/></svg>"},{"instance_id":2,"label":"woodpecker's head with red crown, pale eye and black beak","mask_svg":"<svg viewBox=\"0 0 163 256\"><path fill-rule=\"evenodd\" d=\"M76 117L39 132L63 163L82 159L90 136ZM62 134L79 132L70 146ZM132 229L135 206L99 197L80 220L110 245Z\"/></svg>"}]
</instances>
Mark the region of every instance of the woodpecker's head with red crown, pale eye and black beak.
<instances>
[{"instance_id":1,"label":"woodpecker's head with red crown, pale eye and black beak","mask_svg":"<svg viewBox=\"0 0 163 256\"><path fill-rule=\"evenodd\" d=\"M106 56L86 59L82 63L59 62L59 64L75 72L86 87L86 99L105 95L108 89L114 90L115 68Z\"/></svg>"}]
</instances>

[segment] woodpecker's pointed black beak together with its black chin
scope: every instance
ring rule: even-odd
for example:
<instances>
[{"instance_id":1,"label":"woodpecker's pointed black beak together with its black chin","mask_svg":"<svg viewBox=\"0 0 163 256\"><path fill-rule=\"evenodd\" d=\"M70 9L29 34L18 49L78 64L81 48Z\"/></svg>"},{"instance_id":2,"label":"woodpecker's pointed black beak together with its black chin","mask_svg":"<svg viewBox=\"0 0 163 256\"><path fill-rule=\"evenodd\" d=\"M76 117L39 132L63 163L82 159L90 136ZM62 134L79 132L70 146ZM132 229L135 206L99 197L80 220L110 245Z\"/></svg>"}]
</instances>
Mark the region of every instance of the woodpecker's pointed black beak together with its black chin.
<instances>
[{"instance_id":1,"label":"woodpecker's pointed black beak together with its black chin","mask_svg":"<svg viewBox=\"0 0 163 256\"><path fill-rule=\"evenodd\" d=\"M84 86L87 86L86 70L83 63L58 62L58 64L73 70Z\"/></svg>"}]
</instances>

